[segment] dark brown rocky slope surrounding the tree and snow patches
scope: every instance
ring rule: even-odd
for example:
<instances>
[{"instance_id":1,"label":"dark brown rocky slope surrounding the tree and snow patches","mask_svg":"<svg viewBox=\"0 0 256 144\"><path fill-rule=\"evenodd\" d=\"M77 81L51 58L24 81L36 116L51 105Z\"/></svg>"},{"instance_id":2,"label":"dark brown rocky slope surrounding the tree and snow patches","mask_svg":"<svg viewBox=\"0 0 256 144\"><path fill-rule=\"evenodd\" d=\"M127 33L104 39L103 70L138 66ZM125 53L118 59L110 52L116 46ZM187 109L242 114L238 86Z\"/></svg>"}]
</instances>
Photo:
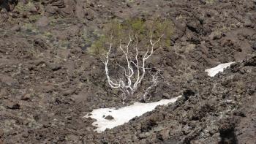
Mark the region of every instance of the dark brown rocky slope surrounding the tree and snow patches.
<instances>
[{"instance_id":1,"label":"dark brown rocky slope surrounding the tree and snow patches","mask_svg":"<svg viewBox=\"0 0 256 144\"><path fill-rule=\"evenodd\" d=\"M165 77L151 101L183 96L98 134L82 117L122 103L87 48L108 20L135 17L173 20L150 61ZM0 143L254 144L255 91L253 0L0 0Z\"/></svg>"}]
</instances>

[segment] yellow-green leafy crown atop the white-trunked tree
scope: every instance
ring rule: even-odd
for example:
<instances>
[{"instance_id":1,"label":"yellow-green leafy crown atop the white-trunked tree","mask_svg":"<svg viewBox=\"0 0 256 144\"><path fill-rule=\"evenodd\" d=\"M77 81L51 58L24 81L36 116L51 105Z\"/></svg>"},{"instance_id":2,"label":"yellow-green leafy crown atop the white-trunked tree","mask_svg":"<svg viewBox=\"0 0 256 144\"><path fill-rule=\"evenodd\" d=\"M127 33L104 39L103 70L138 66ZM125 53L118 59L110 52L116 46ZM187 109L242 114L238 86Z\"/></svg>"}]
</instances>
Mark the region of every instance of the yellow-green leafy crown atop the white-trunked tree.
<instances>
[{"instance_id":1,"label":"yellow-green leafy crown atop the white-trunked tree","mask_svg":"<svg viewBox=\"0 0 256 144\"><path fill-rule=\"evenodd\" d=\"M110 42L113 48L118 48L120 42L129 42L129 35L135 40L138 40L140 48L147 48L149 40L155 41L162 37L159 45L162 47L170 46L170 36L173 34L173 23L171 20L142 20L140 18L133 18L124 22L111 20L104 26L102 34L97 41L93 42L89 48L89 53L92 55L104 54ZM135 42L133 42L135 44Z\"/></svg>"}]
</instances>

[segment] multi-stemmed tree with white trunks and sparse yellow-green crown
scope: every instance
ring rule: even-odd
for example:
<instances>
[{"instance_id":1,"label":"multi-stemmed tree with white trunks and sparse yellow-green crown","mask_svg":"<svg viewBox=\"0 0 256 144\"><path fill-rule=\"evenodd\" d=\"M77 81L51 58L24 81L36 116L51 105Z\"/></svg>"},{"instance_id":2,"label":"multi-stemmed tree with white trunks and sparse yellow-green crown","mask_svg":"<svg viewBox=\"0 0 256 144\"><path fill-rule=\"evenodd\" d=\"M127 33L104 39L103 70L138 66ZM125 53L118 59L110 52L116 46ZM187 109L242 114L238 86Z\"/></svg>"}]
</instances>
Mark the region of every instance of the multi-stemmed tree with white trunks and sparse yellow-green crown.
<instances>
[{"instance_id":1,"label":"multi-stemmed tree with white trunks and sparse yellow-green crown","mask_svg":"<svg viewBox=\"0 0 256 144\"><path fill-rule=\"evenodd\" d=\"M102 40L105 42L105 48L104 53L101 52L101 60L108 85L121 91L123 102L139 90L143 91L143 94L138 99L146 100L151 89L156 87L159 78L162 78L159 69L148 67L147 64L151 56L154 56L154 51L161 47L162 39L166 41L170 35L170 32L167 33L167 27L171 26L171 23L147 24L137 20L126 25L111 25L113 28L111 27L104 36L108 40ZM111 55L116 58L111 58ZM111 69L113 67L118 67L118 70ZM141 88L145 80L149 80L150 84Z\"/></svg>"}]
</instances>

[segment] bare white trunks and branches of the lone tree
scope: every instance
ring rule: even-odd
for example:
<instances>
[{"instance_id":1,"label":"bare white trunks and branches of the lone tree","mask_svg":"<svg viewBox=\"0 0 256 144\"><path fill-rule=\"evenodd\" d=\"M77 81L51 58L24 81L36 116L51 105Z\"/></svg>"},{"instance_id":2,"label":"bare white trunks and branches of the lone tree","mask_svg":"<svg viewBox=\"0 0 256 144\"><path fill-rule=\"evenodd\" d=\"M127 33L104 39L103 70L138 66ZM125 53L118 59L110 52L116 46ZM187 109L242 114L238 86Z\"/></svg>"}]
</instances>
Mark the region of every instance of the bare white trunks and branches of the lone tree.
<instances>
[{"instance_id":1,"label":"bare white trunks and branches of the lone tree","mask_svg":"<svg viewBox=\"0 0 256 144\"><path fill-rule=\"evenodd\" d=\"M103 63L105 64L105 75L107 77L108 84L110 85L110 87L119 88L119 90L122 92L123 101L124 99L127 99L127 96L132 96L135 93L135 91L138 90L138 86L140 86L141 81L145 77L146 69L148 69L146 68L146 60L148 60L148 58L152 56L152 54L154 53L154 47L157 44L157 42L160 41L162 36L159 37L159 39L157 39L156 42L153 42L152 35L151 35L149 40L150 50L147 48L146 53L143 54L143 57L141 60L138 58L139 50L138 50L138 39L136 36L135 36L136 39L132 39L132 36L129 35L129 42L125 46L122 44L122 42L120 42L119 49L124 54L127 65L121 66L117 62L116 64L118 65L118 67L121 67L121 69L124 69L124 77L126 78L126 80L122 80L122 77L118 78L118 80L115 80L112 77L110 77L108 64L110 59L109 55L113 47L113 44L110 42L110 47L108 48L108 52L106 53L105 61L103 61ZM135 50L135 56L132 54L132 50L130 50L132 42L135 42L135 48L133 48ZM131 60L130 57L132 56L135 58L135 62ZM135 66L136 69L133 69L132 64ZM155 75L151 75L152 85L146 88L146 92L145 94L143 94L143 99L146 99L146 95L148 94L151 88L153 88L154 86L157 86L158 75L159 75L159 71L157 71Z\"/></svg>"}]
</instances>

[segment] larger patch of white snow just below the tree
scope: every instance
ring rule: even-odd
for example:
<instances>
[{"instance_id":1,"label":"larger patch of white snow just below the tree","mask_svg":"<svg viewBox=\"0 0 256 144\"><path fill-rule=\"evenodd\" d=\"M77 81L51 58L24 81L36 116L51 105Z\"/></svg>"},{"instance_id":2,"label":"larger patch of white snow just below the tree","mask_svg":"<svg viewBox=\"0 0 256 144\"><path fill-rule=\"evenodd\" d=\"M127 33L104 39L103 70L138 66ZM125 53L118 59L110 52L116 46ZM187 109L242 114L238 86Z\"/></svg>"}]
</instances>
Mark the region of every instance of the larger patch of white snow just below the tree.
<instances>
[{"instance_id":1,"label":"larger patch of white snow just below the tree","mask_svg":"<svg viewBox=\"0 0 256 144\"><path fill-rule=\"evenodd\" d=\"M96 119L97 121L95 121L92 125L97 127L97 132L104 132L105 129L112 129L115 126L127 123L129 120L135 118L136 116L140 116L144 113L154 110L157 105L167 105L169 103L176 102L179 97L181 96L173 99L162 99L159 102L151 103L135 102L133 105L121 107L118 110L115 110L114 108L99 108L83 116L83 118L90 117ZM105 116L108 115L111 115L113 119L105 119Z\"/></svg>"}]
</instances>

